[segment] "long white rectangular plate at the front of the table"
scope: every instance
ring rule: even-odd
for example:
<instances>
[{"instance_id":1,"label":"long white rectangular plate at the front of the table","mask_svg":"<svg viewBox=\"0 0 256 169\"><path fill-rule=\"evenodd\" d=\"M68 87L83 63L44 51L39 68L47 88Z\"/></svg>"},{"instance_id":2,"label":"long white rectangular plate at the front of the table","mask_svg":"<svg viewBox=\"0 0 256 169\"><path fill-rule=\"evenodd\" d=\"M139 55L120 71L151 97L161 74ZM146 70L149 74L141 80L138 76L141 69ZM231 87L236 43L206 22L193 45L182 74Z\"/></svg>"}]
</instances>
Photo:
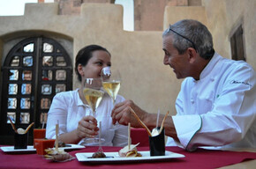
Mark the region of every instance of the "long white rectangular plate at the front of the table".
<instances>
[{"instance_id":1,"label":"long white rectangular plate at the front of the table","mask_svg":"<svg viewBox=\"0 0 256 169\"><path fill-rule=\"evenodd\" d=\"M139 151L142 157L137 158L121 158L118 155L118 152L104 152L107 158L91 158L94 152L81 152L76 153L76 157L80 162L90 162L90 163L113 163L113 162L124 162L124 161L133 161L133 162L142 162L142 161L157 161L157 160L167 160L169 158L184 158L183 154L178 154L171 151L165 151L165 156L150 156L149 151Z\"/></svg>"}]
</instances>

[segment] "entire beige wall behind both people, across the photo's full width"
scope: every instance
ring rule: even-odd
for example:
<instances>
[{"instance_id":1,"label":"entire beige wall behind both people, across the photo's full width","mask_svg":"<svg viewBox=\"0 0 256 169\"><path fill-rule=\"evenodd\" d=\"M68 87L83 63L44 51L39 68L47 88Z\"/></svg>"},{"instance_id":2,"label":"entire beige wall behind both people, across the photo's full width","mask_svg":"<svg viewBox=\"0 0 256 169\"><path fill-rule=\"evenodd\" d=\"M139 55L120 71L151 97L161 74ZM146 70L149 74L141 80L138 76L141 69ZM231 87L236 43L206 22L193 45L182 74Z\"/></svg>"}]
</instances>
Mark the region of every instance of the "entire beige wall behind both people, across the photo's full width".
<instances>
[{"instance_id":1,"label":"entire beige wall behind both people, across the photo's full width","mask_svg":"<svg viewBox=\"0 0 256 169\"><path fill-rule=\"evenodd\" d=\"M230 33L239 23L243 23L246 59L256 70L253 53L256 48L256 2L232 2L205 0L202 2L204 6L167 6L163 28L179 19L198 19L213 33L216 51L230 58ZM123 7L117 4L82 4L78 15L58 13L56 3L26 4L24 16L0 17L0 69L8 48L28 36L44 35L57 41L63 40L73 64L80 48L99 44L109 49L113 66L121 70L123 82L120 94L124 98L133 99L148 112L156 113L160 109L162 114L168 110L170 114L176 114L175 100L182 80L177 80L169 66L162 64L162 31L124 31ZM74 76L73 88L78 86Z\"/></svg>"}]
</instances>

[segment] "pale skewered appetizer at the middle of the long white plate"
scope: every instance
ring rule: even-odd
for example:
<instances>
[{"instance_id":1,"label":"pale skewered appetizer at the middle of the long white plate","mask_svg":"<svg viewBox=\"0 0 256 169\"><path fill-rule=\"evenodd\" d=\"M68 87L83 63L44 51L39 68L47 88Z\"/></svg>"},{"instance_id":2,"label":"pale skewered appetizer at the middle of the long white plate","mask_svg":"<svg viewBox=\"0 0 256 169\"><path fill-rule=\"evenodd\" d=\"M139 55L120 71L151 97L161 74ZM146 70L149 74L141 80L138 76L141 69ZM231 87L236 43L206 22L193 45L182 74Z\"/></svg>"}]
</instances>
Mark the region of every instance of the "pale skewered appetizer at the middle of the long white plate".
<instances>
[{"instance_id":1,"label":"pale skewered appetizer at the middle of the long white plate","mask_svg":"<svg viewBox=\"0 0 256 169\"><path fill-rule=\"evenodd\" d=\"M130 145L130 149L129 149L129 145L126 145L123 149L121 149L120 151L118 151L118 154L120 157L123 158L135 158L135 157L142 157L142 155L137 151L137 146L139 145L139 143L137 144L131 144Z\"/></svg>"}]
</instances>

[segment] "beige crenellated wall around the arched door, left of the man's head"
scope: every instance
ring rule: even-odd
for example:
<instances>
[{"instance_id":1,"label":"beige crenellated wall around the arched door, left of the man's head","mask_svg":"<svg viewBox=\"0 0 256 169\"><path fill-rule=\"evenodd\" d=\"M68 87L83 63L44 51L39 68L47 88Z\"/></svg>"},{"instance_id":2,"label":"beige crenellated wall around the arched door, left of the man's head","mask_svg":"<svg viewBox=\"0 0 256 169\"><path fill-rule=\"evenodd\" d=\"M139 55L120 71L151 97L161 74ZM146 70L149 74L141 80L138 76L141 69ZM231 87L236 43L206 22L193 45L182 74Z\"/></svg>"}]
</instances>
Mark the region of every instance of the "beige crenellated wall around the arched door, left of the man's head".
<instances>
[{"instance_id":1,"label":"beige crenellated wall around the arched door, left of the man's head","mask_svg":"<svg viewBox=\"0 0 256 169\"><path fill-rule=\"evenodd\" d=\"M162 64L162 32L124 31L121 5L82 4L79 15L58 15L56 3L26 4L24 16L0 17L0 27L0 49L39 34L55 40L64 39L67 44L72 43L73 65L80 48L89 44L102 45L111 52L112 65L121 71L120 94L124 98L133 99L152 113L158 109L163 114L168 110L171 114L176 113L174 103L180 81ZM5 56L6 52L1 50L2 64ZM73 88L78 86L74 76Z\"/></svg>"}]
</instances>

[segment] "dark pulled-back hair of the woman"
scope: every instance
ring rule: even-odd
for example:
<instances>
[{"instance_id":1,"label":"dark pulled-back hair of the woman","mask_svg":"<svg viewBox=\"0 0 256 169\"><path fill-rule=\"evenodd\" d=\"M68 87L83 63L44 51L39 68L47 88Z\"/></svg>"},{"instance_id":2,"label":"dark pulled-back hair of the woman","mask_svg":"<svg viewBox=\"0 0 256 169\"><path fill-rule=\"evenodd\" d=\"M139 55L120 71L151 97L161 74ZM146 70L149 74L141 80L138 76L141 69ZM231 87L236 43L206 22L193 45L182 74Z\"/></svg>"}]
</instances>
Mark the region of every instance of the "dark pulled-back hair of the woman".
<instances>
[{"instance_id":1,"label":"dark pulled-back hair of the woman","mask_svg":"<svg viewBox=\"0 0 256 169\"><path fill-rule=\"evenodd\" d=\"M79 50L78 55L76 56L76 63L75 63L75 72L78 75L78 79L81 82L82 78L78 71L78 66L81 64L82 66L86 66L87 62L92 58L92 53L96 50L103 50L107 52L109 55L109 51L106 48L103 48L99 45L89 45L87 47L81 48ZM111 56L111 55L110 55Z\"/></svg>"}]
</instances>

